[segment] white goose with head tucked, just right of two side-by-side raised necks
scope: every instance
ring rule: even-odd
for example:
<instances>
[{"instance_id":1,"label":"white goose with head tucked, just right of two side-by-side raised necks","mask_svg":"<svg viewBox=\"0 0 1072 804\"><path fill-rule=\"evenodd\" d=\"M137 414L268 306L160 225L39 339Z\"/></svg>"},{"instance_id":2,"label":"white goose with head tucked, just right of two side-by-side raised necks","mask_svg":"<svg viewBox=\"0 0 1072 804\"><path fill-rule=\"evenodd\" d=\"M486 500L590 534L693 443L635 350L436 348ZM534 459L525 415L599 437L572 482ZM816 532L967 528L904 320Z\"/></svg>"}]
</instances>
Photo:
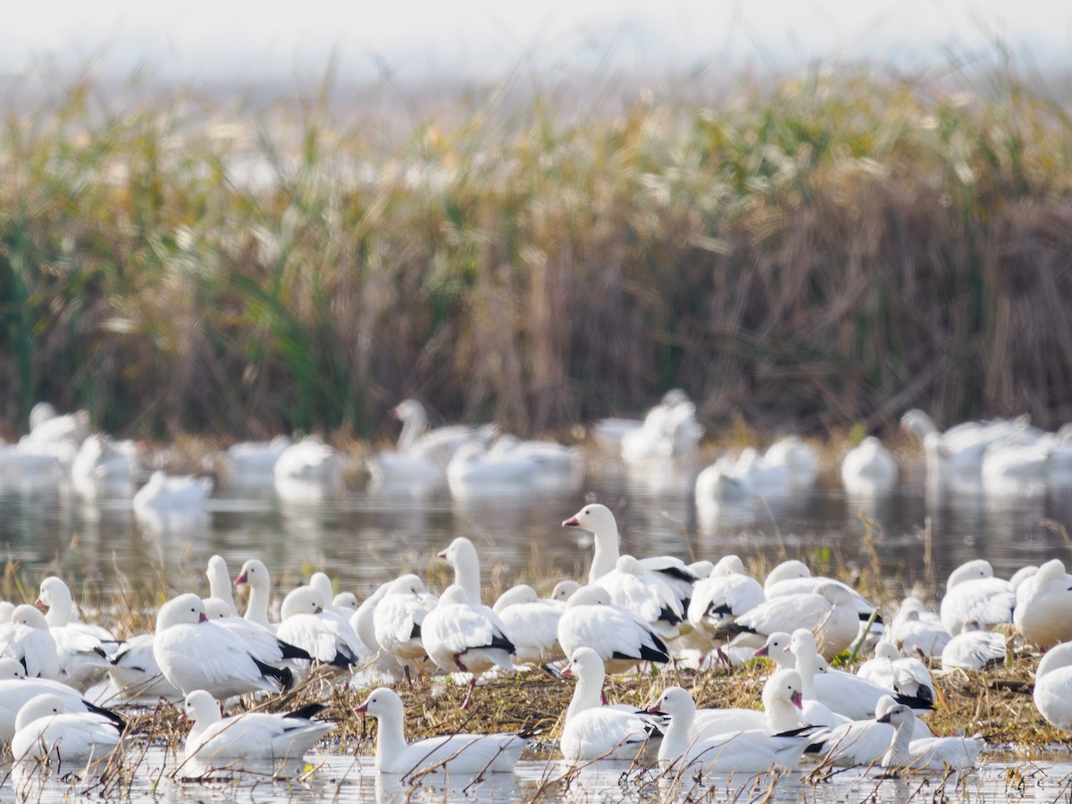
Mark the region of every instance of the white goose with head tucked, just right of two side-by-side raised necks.
<instances>
[{"instance_id":1,"label":"white goose with head tucked, just right of two side-by-side raised necks","mask_svg":"<svg viewBox=\"0 0 1072 804\"><path fill-rule=\"evenodd\" d=\"M326 605L323 593L312 586L291 590L283 598L276 636L307 651L307 658L346 670L360 660L361 643L349 621L325 611Z\"/></svg>"}]
</instances>

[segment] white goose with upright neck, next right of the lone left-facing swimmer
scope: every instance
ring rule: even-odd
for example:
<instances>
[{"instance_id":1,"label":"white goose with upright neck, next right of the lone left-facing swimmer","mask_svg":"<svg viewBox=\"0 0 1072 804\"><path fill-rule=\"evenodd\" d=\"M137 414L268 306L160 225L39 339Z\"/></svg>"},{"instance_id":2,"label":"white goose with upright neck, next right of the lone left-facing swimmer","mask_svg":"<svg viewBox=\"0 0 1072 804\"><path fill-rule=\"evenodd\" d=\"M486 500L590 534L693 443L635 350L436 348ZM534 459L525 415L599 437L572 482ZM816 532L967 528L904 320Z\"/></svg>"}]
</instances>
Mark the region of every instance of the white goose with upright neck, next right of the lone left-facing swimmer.
<instances>
[{"instance_id":1,"label":"white goose with upright neck, next right of the lone left-facing swimmer","mask_svg":"<svg viewBox=\"0 0 1072 804\"><path fill-rule=\"evenodd\" d=\"M568 761L636 759L658 734L655 724L640 711L600 705L604 664L592 649L575 650L563 672L577 676L559 738L559 749Z\"/></svg>"}]
</instances>

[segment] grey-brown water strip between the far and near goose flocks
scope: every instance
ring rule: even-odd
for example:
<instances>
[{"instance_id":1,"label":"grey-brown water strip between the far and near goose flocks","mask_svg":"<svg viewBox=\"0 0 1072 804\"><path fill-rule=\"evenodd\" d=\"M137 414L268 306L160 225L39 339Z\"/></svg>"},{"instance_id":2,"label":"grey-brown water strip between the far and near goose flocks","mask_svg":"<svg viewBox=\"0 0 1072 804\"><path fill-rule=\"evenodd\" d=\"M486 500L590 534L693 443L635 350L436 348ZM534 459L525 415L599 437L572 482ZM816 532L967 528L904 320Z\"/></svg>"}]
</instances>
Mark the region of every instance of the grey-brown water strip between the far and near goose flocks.
<instances>
[{"instance_id":1,"label":"grey-brown water strip between the far and near goose flocks","mask_svg":"<svg viewBox=\"0 0 1072 804\"><path fill-rule=\"evenodd\" d=\"M690 473L637 475L605 460L587 465L575 490L539 496L462 502L446 493L414 500L349 490L340 501L296 505L223 489L206 512L152 520L136 517L129 500L89 504L55 483L33 493L0 486L0 541L31 576L59 571L104 592L124 579L158 578L173 591L204 590L205 563L220 553L233 576L256 556L281 583L325 569L340 590L363 598L402 569L442 569L434 556L458 535L480 547L486 583L580 576L591 541L561 522L594 501L617 513L623 552L686 561L732 551L865 567L872 553L863 516L873 523L883 575L906 587L917 581L937 587L968 559L985 557L1008 577L1025 564L1063 557L1061 528L1072 528L1067 490L937 493L926 488L920 466L906 467L904 481L883 496L852 497L821 478L806 494L710 510L697 507Z\"/></svg>"}]
</instances>

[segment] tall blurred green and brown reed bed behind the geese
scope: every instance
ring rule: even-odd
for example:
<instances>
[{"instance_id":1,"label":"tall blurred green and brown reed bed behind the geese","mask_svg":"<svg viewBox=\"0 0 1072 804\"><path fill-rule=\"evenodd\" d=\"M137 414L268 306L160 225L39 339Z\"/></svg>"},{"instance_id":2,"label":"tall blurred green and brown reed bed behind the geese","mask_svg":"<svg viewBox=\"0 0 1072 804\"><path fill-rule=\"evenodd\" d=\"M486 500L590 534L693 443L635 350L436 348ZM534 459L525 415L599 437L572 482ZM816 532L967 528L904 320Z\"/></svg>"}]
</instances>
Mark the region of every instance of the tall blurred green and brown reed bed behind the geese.
<instances>
[{"instance_id":1,"label":"tall blurred green and brown reed bed behind the geese","mask_svg":"<svg viewBox=\"0 0 1072 804\"><path fill-rule=\"evenodd\" d=\"M671 386L715 426L1072 418L1072 125L1012 70L489 92L393 138L327 89L12 106L0 418L368 436L417 396L532 432Z\"/></svg>"}]
</instances>

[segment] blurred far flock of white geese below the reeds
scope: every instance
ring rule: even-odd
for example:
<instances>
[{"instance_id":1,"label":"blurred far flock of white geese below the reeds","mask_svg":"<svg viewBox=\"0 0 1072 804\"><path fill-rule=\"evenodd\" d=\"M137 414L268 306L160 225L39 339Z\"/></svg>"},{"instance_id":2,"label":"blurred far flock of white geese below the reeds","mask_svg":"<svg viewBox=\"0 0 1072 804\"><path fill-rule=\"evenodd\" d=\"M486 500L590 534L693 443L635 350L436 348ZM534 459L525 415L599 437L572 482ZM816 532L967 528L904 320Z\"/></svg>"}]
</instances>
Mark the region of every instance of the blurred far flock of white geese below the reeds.
<instances>
[{"instance_id":1,"label":"blurred far flock of white geese below the reeds","mask_svg":"<svg viewBox=\"0 0 1072 804\"><path fill-rule=\"evenodd\" d=\"M569 494L584 478L585 452L549 441L522 441L494 425L432 428L425 407L405 400L391 415L402 422L393 449L361 463L369 494L455 498ZM1056 433L1026 417L969 421L939 431L922 411L902 418L902 429L923 449L927 481L965 493L1030 495L1072 487L1072 427ZM810 490L823 466L814 447L790 435L764 451L746 447L701 461L703 428L681 390L666 394L643 419L601 419L587 428L605 456L621 460L637 477L695 482L701 512ZM169 476L145 468L144 445L92 433L86 412L58 415L47 403L33 408L30 430L16 444L0 443L0 490L60 485L90 500L130 500L135 513L152 520L166 512L204 511L214 483L237 494L271 494L283 502L312 502L346 492L340 455L315 436L240 443L206 466L209 476ZM852 494L885 494L899 477L897 459L881 441L863 438L845 453L838 476Z\"/></svg>"}]
</instances>

